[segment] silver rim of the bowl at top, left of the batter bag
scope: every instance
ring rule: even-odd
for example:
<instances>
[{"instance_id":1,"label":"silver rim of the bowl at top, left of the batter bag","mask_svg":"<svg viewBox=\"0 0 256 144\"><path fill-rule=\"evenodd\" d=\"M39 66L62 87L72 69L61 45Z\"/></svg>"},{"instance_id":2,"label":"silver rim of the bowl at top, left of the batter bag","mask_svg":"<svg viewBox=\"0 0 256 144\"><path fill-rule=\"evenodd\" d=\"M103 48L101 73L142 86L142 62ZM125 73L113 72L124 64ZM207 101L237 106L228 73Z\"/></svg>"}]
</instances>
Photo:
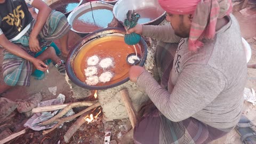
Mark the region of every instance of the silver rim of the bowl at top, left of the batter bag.
<instances>
[{"instance_id":1,"label":"silver rim of the bowl at top, left of the batter bag","mask_svg":"<svg viewBox=\"0 0 256 144\"><path fill-rule=\"evenodd\" d=\"M87 3L85 3L85 4L82 4L82 5L78 6L78 7L76 7L76 8L68 15L68 18L67 18L67 19L68 19L69 25L72 25L72 24L73 24L73 19L72 19L72 18L73 18L73 15L74 15L79 9L82 9L82 7L85 7L85 6L90 6L91 4L92 4L92 5L93 5L93 4L105 4L105 5L110 6L112 9L114 8L113 5L111 5L111 4L109 4L109 3L101 2L101 1L87 2ZM91 9L91 8L90 8L90 9ZM81 32L81 31L77 31L77 30L73 29L73 27L71 27L71 30L74 31L75 33L77 33L78 35L82 36L82 37L84 37L84 36L86 36L86 35L88 35L88 34L93 33L93 31L91 31L91 32L86 32L86 33Z\"/></svg>"}]
</instances>

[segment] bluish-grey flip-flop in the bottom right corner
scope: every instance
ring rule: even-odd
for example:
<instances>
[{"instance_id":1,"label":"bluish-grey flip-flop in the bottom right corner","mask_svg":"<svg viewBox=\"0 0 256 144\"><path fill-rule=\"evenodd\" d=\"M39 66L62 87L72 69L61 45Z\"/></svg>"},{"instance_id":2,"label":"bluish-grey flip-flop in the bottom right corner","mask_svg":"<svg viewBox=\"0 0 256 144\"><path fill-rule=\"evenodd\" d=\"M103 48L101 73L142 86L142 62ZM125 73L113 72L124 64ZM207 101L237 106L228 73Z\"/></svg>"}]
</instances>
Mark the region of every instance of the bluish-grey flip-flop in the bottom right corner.
<instances>
[{"instance_id":1,"label":"bluish-grey flip-flop in the bottom right corner","mask_svg":"<svg viewBox=\"0 0 256 144\"><path fill-rule=\"evenodd\" d=\"M242 115L240 121L235 127L235 130L239 135L241 135L241 141L244 144L256 143L256 130L254 130L253 127L255 128L255 125L250 121L250 119Z\"/></svg>"}]
</instances>

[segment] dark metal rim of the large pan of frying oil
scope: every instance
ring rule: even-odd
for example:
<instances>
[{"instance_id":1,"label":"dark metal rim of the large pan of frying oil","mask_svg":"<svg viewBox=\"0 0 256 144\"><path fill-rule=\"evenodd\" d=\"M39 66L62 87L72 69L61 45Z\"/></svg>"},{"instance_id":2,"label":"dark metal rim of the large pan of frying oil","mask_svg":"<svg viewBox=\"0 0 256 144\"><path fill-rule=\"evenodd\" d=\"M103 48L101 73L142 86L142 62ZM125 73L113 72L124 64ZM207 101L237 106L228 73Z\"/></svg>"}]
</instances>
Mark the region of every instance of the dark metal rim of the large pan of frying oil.
<instances>
[{"instance_id":1,"label":"dark metal rim of the large pan of frying oil","mask_svg":"<svg viewBox=\"0 0 256 144\"><path fill-rule=\"evenodd\" d=\"M127 81L129 81L129 77L126 77L122 79L122 81L116 82L111 85L103 85L103 86L92 86L92 85L87 85L86 83L80 81L77 76L75 75L74 72L74 66L79 65L78 63L75 63L75 58L79 51L82 49L86 49L86 44L92 42L94 39L105 37L105 36L113 36L113 35L118 35L118 36L124 36L125 35L125 29L123 28L106 28L106 29L101 29L98 31L95 31L84 38L81 39L78 43L75 44L73 49L69 52L67 62L66 62L66 71L67 75L70 78L70 80L75 83L76 85L83 87L88 90L105 90L105 89L110 89L112 87L116 87L118 85L121 85ZM139 45L141 47L141 60L138 64L138 66L143 66L146 58L147 58L147 44L146 42L141 38Z\"/></svg>"}]
</instances>

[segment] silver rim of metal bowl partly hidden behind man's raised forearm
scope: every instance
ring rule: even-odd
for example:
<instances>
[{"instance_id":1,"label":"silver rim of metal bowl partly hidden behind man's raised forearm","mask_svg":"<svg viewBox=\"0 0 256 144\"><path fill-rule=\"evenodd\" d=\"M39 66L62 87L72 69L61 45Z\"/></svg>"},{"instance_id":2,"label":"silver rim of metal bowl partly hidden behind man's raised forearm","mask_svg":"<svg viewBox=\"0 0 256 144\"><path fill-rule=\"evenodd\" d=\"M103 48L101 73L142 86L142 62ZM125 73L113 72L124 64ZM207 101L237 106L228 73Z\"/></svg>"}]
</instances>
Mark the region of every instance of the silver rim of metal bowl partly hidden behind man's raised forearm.
<instances>
[{"instance_id":1,"label":"silver rim of metal bowl partly hidden behind man's raised forearm","mask_svg":"<svg viewBox=\"0 0 256 144\"><path fill-rule=\"evenodd\" d=\"M113 15L114 15L115 19L117 21L119 21L122 25L123 25L124 22L123 22L123 20L118 19L117 15L116 15L117 14L116 11L117 11L118 5L120 5L120 3L122 3L123 1L126 1L126 0L119 0L114 5L114 8L113 8ZM166 12L164 11L163 14L161 14L158 18L156 18L154 20L151 20L149 22L146 22L146 23L141 23L141 25L159 25L165 19L165 14L166 14Z\"/></svg>"}]
</instances>

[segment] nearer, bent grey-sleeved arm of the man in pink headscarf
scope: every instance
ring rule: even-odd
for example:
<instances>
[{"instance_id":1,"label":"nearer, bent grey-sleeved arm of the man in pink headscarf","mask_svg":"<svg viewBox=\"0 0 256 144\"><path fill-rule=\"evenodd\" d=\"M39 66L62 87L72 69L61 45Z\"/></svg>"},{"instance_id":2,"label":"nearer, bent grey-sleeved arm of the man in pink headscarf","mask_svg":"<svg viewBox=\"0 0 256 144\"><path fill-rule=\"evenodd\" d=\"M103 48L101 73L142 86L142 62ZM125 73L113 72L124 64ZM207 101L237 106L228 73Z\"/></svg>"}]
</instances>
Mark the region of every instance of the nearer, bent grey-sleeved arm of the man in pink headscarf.
<instances>
[{"instance_id":1,"label":"nearer, bent grey-sleeved arm of the man in pink headscarf","mask_svg":"<svg viewBox=\"0 0 256 144\"><path fill-rule=\"evenodd\" d=\"M147 72L138 77L137 83L166 118L180 122L209 105L228 82L225 75L210 66L190 65L182 70L171 93Z\"/></svg>"}]
</instances>

